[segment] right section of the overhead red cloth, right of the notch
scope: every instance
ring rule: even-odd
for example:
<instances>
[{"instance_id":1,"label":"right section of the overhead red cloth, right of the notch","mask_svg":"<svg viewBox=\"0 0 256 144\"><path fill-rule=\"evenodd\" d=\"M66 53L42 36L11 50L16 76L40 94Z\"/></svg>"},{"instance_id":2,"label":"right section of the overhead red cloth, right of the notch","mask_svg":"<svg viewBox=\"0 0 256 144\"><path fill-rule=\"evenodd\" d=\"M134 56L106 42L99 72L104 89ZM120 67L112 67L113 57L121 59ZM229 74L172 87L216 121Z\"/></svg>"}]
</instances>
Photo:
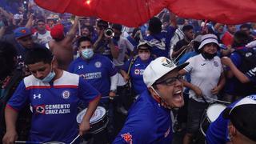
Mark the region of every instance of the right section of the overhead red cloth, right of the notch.
<instances>
[{"instance_id":1,"label":"right section of the overhead red cloth, right of the notch","mask_svg":"<svg viewBox=\"0 0 256 144\"><path fill-rule=\"evenodd\" d=\"M169 10L182 18L207 19L224 24L256 22L255 0L171 0Z\"/></svg>"}]
</instances>

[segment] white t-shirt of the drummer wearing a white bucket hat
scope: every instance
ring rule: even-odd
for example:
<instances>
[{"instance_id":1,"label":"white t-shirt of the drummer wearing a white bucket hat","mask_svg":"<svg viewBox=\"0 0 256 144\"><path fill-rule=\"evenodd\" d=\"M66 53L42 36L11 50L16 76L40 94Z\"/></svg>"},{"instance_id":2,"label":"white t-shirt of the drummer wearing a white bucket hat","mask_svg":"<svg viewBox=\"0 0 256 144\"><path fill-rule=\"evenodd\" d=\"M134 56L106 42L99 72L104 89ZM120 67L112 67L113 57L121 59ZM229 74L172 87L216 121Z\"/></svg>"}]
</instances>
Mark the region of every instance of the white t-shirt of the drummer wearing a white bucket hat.
<instances>
[{"instance_id":1,"label":"white t-shirt of the drummer wearing a white bucket hat","mask_svg":"<svg viewBox=\"0 0 256 144\"><path fill-rule=\"evenodd\" d=\"M213 90L218 85L223 72L221 59L215 56L213 59L208 60L203 58L202 54L198 54L186 62L190 62L184 68L190 74L190 83L202 90L202 94L207 102L213 102L211 98L217 99L217 95L211 94L210 90ZM198 102L204 102L202 98L197 98L194 90L190 90L190 98Z\"/></svg>"}]
</instances>

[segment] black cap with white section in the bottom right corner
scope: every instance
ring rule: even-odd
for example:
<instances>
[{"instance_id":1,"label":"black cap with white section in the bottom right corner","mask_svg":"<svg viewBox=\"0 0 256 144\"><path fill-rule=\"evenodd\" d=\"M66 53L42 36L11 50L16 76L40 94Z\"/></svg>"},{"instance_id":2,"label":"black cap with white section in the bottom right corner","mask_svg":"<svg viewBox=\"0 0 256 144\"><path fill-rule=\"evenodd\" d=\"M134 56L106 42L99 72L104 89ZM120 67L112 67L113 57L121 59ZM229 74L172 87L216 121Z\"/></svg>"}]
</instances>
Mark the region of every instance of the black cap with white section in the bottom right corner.
<instances>
[{"instance_id":1,"label":"black cap with white section in the bottom right corner","mask_svg":"<svg viewBox=\"0 0 256 144\"><path fill-rule=\"evenodd\" d=\"M230 119L241 134L256 142L256 95L242 98L233 108L226 108L222 116Z\"/></svg>"}]
</instances>

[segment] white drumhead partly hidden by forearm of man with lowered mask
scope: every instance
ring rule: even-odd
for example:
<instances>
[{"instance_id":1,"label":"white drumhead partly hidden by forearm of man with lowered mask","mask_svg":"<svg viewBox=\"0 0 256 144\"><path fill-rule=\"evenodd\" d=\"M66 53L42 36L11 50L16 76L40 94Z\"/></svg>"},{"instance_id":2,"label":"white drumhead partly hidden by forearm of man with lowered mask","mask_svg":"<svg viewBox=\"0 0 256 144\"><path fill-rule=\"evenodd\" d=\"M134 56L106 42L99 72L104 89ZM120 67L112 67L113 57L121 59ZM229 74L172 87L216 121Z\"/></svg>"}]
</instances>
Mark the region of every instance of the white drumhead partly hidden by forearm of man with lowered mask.
<instances>
[{"instance_id":1,"label":"white drumhead partly hidden by forearm of man with lowered mask","mask_svg":"<svg viewBox=\"0 0 256 144\"><path fill-rule=\"evenodd\" d=\"M82 118L86 114L86 110L87 110L87 108L85 110L82 110L78 114L78 116L77 116L78 123L82 122ZM102 106L97 106L97 109L94 111L93 116L90 118L90 123L98 122L99 120L104 118L105 115L106 115L106 109Z\"/></svg>"}]
</instances>

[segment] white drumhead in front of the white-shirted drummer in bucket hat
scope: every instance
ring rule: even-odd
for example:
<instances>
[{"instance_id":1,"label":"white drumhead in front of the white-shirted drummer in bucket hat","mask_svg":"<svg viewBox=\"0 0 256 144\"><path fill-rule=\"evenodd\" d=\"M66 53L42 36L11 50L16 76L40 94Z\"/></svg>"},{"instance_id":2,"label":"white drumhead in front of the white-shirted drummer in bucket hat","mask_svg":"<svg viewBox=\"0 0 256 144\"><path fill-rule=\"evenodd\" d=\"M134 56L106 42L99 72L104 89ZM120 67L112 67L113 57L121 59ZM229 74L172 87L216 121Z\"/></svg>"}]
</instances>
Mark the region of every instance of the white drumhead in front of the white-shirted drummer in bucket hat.
<instances>
[{"instance_id":1,"label":"white drumhead in front of the white-shirted drummer in bucket hat","mask_svg":"<svg viewBox=\"0 0 256 144\"><path fill-rule=\"evenodd\" d=\"M214 122L225 108L226 106L218 103L210 105L206 110L207 118L210 122Z\"/></svg>"}]
</instances>

